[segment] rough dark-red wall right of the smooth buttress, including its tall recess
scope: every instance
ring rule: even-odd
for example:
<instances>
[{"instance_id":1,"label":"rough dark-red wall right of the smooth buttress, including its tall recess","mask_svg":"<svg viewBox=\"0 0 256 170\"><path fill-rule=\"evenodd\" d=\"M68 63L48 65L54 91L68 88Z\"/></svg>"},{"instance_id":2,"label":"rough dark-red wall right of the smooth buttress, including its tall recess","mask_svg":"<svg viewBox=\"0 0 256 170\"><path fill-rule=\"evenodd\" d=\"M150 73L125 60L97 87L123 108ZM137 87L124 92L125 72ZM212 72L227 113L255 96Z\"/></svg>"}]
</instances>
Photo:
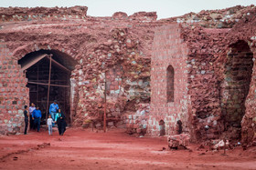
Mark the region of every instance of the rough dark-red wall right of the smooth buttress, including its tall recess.
<instances>
[{"instance_id":1,"label":"rough dark-red wall right of the smooth buttress, including its tall recess","mask_svg":"<svg viewBox=\"0 0 256 170\"><path fill-rule=\"evenodd\" d=\"M191 132L197 141L219 137L235 141L241 135L246 144L255 136L254 11L243 15L232 29L184 25L182 34L190 49L187 66ZM241 116L243 120L236 121Z\"/></svg>"}]
</instances>

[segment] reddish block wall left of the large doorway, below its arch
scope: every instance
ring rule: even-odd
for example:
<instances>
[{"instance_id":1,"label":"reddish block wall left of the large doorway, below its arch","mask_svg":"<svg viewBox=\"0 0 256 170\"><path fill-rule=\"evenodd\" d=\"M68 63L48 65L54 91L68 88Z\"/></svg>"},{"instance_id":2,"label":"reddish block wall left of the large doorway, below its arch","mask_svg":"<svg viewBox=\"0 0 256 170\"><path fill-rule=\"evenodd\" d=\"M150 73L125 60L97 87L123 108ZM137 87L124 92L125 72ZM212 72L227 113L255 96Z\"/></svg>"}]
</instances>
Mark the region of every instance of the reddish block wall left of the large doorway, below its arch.
<instances>
[{"instance_id":1,"label":"reddish block wall left of the large doorway, below its arch","mask_svg":"<svg viewBox=\"0 0 256 170\"><path fill-rule=\"evenodd\" d=\"M5 42L0 42L0 134L23 131L24 105L28 105L26 79Z\"/></svg>"}]
</instances>

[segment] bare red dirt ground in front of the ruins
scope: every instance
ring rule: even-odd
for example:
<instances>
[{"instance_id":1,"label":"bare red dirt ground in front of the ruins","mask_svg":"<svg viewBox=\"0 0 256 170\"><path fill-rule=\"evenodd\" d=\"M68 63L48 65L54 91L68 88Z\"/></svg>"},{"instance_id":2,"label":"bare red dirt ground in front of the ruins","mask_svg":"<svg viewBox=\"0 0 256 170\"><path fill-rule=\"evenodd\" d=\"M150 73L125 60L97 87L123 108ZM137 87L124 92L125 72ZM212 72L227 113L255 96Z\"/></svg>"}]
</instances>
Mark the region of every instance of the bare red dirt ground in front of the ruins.
<instances>
[{"instance_id":1,"label":"bare red dirt ground in front of the ruins","mask_svg":"<svg viewBox=\"0 0 256 170\"><path fill-rule=\"evenodd\" d=\"M168 150L166 137L134 137L69 128L0 136L0 169L256 169L256 148ZM166 150L163 150L163 147Z\"/></svg>"}]
</instances>

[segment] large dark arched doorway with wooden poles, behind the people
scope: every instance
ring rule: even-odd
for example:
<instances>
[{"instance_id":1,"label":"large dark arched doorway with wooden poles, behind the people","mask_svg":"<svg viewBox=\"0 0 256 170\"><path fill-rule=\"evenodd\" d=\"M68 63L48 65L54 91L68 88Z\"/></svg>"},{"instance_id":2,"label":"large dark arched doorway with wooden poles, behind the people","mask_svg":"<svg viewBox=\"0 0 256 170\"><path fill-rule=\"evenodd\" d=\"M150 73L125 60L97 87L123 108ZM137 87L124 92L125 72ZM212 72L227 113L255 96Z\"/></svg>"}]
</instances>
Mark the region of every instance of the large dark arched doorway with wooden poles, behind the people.
<instances>
[{"instance_id":1,"label":"large dark arched doorway with wooden poles, behind the people","mask_svg":"<svg viewBox=\"0 0 256 170\"><path fill-rule=\"evenodd\" d=\"M43 119L57 100L70 123L70 75L76 61L58 50L39 50L25 55L18 64L26 73L30 103L39 106Z\"/></svg>"}]
</instances>

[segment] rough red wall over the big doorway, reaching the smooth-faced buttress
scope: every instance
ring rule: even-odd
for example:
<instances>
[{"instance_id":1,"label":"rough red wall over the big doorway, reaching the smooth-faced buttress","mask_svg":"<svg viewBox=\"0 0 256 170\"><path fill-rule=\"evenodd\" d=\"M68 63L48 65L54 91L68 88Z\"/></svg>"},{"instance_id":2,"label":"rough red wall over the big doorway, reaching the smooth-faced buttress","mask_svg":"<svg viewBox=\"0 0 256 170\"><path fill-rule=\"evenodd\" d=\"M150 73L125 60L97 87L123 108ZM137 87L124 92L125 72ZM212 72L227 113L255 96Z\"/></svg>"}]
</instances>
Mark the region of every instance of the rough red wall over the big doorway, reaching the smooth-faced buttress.
<instances>
[{"instance_id":1,"label":"rough red wall over the big doorway, reaching the smooth-faced buttress","mask_svg":"<svg viewBox=\"0 0 256 170\"><path fill-rule=\"evenodd\" d=\"M160 25L155 13L123 15L5 22L0 39L16 62L39 50L56 50L77 61L71 73L72 125L101 117L106 81L108 125L114 125L125 112L150 101L151 44ZM26 82L24 75L21 79Z\"/></svg>"}]
</instances>

